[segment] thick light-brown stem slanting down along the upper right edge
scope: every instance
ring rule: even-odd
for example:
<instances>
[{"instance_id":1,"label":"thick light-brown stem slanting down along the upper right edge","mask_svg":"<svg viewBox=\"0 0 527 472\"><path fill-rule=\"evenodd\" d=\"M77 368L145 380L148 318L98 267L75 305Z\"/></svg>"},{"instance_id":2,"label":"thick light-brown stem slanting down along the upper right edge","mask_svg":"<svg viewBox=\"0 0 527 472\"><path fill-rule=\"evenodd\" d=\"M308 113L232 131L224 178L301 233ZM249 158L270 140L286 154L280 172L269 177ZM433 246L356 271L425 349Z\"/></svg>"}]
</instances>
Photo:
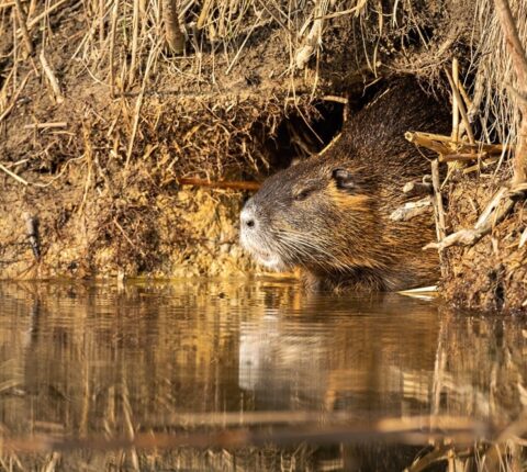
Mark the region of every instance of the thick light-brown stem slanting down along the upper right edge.
<instances>
[{"instance_id":1,"label":"thick light-brown stem slanting down along the upper right edge","mask_svg":"<svg viewBox=\"0 0 527 472\"><path fill-rule=\"evenodd\" d=\"M527 58L524 46L518 36L516 22L507 0L494 0L496 15L500 20L506 47L511 54L514 72L516 75L518 92L527 95ZM523 100L515 100L522 113L522 122L518 128L518 143L513 160L513 186L527 180L527 103Z\"/></svg>"}]
</instances>

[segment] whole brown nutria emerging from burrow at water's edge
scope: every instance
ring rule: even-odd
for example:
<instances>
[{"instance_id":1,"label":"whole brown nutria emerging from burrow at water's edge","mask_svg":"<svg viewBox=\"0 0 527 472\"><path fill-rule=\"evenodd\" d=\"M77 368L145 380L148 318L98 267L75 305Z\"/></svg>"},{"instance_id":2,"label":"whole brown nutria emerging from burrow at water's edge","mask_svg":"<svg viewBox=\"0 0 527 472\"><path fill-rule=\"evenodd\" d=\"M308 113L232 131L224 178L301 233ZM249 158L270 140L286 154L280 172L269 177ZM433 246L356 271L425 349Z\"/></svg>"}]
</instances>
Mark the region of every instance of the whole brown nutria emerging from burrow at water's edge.
<instances>
[{"instance_id":1,"label":"whole brown nutria emerging from burrow at water's edge","mask_svg":"<svg viewBox=\"0 0 527 472\"><path fill-rule=\"evenodd\" d=\"M435 283L431 214L393 222L408 199L402 187L429 172L404 138L441 132L445 114L412 80L403 80L355 114L322 156L267 179L240 215L242 245L273 270L301 267L313 289L402 290Z\"/></svg>"}]
</instances>

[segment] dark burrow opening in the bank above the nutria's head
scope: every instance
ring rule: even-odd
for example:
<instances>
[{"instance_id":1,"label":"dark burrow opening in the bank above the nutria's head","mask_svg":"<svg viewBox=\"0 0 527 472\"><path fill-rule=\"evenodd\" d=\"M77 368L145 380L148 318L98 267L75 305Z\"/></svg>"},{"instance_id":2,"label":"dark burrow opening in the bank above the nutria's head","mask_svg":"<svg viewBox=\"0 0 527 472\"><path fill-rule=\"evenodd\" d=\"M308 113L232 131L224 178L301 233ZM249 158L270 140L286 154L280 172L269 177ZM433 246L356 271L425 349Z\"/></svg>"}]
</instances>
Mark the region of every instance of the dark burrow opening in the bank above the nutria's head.
<instances>
[{"instance_id":1,"label":"dark burrow opening in the bank above the nutria's head","mask_svg":"<svg viewBox=\"0 0 527 472\"><path fill-rule=\"evenodd\" d=\"M344 103L319 101L312 116L300 112L284 116L276 135L264 144L270 157L269 175L324 149L343 128L344 113Z\"/></svg>"}]
</instances>

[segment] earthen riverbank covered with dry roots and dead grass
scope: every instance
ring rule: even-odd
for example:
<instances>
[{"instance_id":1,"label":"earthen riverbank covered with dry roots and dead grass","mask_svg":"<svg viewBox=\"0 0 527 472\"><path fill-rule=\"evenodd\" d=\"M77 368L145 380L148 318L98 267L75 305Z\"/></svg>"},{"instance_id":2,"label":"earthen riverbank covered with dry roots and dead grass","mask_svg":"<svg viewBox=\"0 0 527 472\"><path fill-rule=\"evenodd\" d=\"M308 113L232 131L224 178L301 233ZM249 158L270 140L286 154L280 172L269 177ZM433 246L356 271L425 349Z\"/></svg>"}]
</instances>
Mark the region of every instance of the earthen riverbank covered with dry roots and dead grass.
<instances>
[{"instance_id":1,"label":"earthen riverbank covered with dry roots and dead grass","mask_svg":"<svg viewBox=\"0 0 527 472\"><path fill-rule=\"evenodd\" d=\"M451 198L439 233L469 229L492 196L484 190L476 202L463 189L516 186L474 250L441 251L444 293L474 307L525 306L517 45L526 44L527 2L507 4L515 42L503 35L503 8L486 0L0 0L2 276L209 273L222 234L236 239L239 191L323 149L343 103L352 113L392 76L412 74L430 92L451 93L452 135L439 159L449 162L440 190ZM189 205L201 201L189 190L181 203L186 182L220 187L208 199L229 216L212 237L192 227ZM460 218L467 202L472 211ZM27 211L41 220L38 260L24 245ZM486 268L476 254L489 247L496 257ZM247 267L235 252L221 272ZM470 300L453 276L461 267ZM504 293L519 292L483 303L497 272Z\"/></svg>"}]
</instances>

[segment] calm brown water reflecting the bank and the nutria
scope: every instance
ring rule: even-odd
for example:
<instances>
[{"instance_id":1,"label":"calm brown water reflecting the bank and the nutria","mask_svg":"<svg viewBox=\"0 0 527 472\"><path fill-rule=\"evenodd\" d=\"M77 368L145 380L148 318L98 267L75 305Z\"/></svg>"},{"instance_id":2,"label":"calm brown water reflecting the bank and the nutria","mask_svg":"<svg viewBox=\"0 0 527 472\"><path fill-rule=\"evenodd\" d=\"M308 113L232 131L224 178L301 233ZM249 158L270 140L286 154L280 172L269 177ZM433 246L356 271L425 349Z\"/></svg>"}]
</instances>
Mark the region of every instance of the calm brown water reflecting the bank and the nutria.
<instances>
[{"instance_id":1,"label":"calm brown water reflecting the bank and the nutria","mask_svg":"<svg viewBox=\"0 0 527 472\"><path fill-rule=\"evenodd\" d=\"M479 467L473 441L526 402L523 326L288 281L2 282L0 464L403 470L437 452L435 470Z\"/></svg>"}]
</instances>

